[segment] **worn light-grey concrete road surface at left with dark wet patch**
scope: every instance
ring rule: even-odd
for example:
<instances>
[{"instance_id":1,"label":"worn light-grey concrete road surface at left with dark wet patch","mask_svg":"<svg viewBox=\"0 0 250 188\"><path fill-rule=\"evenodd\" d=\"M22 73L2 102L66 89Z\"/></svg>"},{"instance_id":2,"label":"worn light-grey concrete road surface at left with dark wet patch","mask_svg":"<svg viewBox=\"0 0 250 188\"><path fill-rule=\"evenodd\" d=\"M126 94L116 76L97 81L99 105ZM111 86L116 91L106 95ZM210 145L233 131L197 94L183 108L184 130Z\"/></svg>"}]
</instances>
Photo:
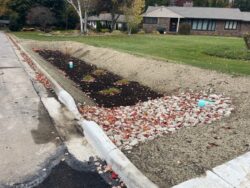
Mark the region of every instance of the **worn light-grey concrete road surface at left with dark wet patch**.
<instances>
[{"instance_id":1,"label":"worn light-grey concrete road surface at left with dark wet patch","mask_svg":"<svg viewBox=\"0 0 250 188\"><path fill-rule=\"evenodd\" d=\"M41 177L62 148L12 44L0 32L0 187Z\"/></svg>"}]
</instances>

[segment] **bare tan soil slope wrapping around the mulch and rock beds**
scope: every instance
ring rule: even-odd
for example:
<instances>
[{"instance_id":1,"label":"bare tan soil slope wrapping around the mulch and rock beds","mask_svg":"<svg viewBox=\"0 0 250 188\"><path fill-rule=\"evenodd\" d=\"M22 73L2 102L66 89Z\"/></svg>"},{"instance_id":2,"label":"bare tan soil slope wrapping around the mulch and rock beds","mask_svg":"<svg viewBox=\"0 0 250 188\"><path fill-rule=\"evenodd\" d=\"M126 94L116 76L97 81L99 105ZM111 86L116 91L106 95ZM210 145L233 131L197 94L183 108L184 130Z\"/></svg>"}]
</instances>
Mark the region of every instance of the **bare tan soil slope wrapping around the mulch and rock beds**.
<instances>
[{"instance_id":1,"label":"bare tan soil slope wrapping around the mulch and rock beds","mask_svg":"<svg viewBox=\"0 0 250 188\"><path fill-rule=\"evenodd\" d=\"M22 43L29 49L61 50L163 94L192 89L224 94L233 99L235 111L230 118L209 126L181 129L140 144L127 153L129 159L160 187L171 187L200 176L205 170L250 150L250 77L146 59L80 43Z\"/></svg>"}]
</instances>

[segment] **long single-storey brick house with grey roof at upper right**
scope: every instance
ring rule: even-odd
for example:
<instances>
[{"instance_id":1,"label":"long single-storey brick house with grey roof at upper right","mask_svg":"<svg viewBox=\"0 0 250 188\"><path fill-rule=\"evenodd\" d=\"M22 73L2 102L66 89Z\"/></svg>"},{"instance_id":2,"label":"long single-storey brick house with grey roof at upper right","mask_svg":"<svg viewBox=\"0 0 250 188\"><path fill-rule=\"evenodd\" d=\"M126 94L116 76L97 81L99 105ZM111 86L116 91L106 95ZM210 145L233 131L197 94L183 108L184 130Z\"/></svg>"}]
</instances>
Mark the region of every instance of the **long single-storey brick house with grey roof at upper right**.
<instances>
[{"instance_id":1,"label":"long single-storey brick house with grey roof at upper right","mask_svg":"<svg viewBox=\"0 0 250 188\"><path fill-rule=\"evenodd\" d=\"M178 33L182 23L191 25L191 34L242 36L250 32L250 12L233 8L150 6L143 14L146 32L161 28L167 33Z\"/></svg>"}]
</instances>

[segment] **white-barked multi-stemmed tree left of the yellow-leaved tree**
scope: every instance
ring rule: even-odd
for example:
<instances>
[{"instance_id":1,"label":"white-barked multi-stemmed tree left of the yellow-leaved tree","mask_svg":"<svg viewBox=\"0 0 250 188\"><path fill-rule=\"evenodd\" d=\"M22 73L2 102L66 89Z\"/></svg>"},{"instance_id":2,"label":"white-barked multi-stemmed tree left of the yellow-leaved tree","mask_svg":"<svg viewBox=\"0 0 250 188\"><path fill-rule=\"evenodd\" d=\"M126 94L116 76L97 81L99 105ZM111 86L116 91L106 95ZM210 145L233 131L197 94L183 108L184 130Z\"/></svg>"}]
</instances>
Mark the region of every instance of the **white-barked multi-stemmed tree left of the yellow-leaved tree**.
<instances>
[{"instance_id":1,"label":"white-barked multi-stemmed tree left of the yellow-leaved tree","mask_svg":"<svg viewBox=\"0 0 250 188\"><path fill-rule=\"evenodd\" d=\"M66 0L77 12L80 18L80 29L81 33L87 34L88 33L88 13L89 11L95 7L96 0ZM84 12L84 18L82 15Z\"/></svg>"}]
</instances>

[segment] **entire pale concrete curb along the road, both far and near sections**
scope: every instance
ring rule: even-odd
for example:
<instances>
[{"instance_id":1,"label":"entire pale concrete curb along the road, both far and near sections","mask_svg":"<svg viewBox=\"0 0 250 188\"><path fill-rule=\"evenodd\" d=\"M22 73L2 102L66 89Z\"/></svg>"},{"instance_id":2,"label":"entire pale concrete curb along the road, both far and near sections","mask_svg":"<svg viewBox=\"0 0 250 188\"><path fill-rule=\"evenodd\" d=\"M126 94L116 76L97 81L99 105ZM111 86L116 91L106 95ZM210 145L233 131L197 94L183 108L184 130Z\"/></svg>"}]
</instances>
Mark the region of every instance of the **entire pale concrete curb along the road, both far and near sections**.
<instances>
[{"instance_id":1,"label":"entire pale concrete curb along the road, both far and near sections","mask_svg":"<svg viewBox=\"0 0 250 188\"><path fill-rule=\"evenodd\" d=\"M28 53L18 44L18 40L14 36L10 36L12 42L17 45L20 50L25 53L35 64L37 69L43 73L51 82L52 88L60 102L62 102L69 111L71 111L78 124L83 129L87 141L97 151L97 153L107 161L118 173L120 178L124 181L128 188L157 188L158 186L151 182L144 176L130 161L129 159L111 142L104 131L95 122L86 121L82 118L75 104L73 97L65 91Z\"/></svg>"}]
</instances>

